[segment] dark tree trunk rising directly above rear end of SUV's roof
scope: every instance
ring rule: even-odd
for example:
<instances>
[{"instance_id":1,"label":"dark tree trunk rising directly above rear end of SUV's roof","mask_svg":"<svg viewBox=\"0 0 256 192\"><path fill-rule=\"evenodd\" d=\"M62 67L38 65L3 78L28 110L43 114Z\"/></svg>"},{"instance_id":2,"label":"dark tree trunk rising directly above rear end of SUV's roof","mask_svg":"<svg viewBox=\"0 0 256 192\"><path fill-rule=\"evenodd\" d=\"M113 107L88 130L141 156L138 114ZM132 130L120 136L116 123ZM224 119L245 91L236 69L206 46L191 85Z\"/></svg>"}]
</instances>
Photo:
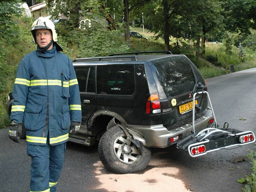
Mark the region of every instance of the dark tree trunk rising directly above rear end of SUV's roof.
<instances>
[{"instance_id":1,"label":"dark tree trunk rising directly above rear end of SUV's roof","mask_svg":"<svg viewBox=\"0 0 256 192\"><path fill-rule=\"evenodd\" d=\"M168 7L168 1L163 0L162 1L163 7L164 7L164 49L165 51L170 51L170 40L169 40L169 7Z\"/></svg>"}]
</instances>

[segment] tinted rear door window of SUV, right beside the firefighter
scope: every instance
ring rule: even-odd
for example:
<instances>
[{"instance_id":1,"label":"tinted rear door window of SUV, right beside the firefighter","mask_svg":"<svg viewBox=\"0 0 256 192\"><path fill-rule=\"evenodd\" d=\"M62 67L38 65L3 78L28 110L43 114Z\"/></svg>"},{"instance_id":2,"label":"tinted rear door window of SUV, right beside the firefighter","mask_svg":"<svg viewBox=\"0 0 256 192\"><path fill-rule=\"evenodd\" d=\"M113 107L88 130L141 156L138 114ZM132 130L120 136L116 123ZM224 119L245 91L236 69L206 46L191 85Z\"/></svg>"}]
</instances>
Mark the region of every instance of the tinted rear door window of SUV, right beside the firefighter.
<instances>
[{"instance_id":1,"label":"tinted rear door window of SUV, right beside the firefighter","mask_svg":"<svg viewBox=\"0 0 256 192\"><path fill-rule=\"evenodd\" d=\"M75 68L80 92L95 93L95 68Z\"/></svg>"}]
</instances>

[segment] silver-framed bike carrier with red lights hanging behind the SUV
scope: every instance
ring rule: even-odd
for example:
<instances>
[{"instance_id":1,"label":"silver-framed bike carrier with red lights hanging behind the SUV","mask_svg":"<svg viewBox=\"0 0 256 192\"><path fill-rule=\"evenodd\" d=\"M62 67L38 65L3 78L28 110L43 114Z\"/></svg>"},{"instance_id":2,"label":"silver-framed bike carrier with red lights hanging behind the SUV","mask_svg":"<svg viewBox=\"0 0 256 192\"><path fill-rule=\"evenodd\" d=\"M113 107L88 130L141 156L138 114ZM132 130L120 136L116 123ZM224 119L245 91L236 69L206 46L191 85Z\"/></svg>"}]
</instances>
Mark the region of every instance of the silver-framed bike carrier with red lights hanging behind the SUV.
<instances>
[{"instance_id":1,"label":"silver-framed bike carrier with red lights hanging behind the SUV","mask_svg":"<svg viewBox=\"0 0 256 192\"><path fill-rule=\"evenodd\" d=\"M214 119L214 123L211 127L207 127L199 132L195 131L195 97L197 94L207 95ZM191 157L202 156L213 151L247 145L255 142L255 135L252 131L242 132L236 129L230 129L228 128L228 123L225 123L222 129L218 128L209 93L206 91L195 92L193 94L192 118L193 134L177 142L177 148L188 150L188 154ZM225 126L226 124L227 127ZM213 127L214 125L215 127Z\"/></svg>"}]
</instances>

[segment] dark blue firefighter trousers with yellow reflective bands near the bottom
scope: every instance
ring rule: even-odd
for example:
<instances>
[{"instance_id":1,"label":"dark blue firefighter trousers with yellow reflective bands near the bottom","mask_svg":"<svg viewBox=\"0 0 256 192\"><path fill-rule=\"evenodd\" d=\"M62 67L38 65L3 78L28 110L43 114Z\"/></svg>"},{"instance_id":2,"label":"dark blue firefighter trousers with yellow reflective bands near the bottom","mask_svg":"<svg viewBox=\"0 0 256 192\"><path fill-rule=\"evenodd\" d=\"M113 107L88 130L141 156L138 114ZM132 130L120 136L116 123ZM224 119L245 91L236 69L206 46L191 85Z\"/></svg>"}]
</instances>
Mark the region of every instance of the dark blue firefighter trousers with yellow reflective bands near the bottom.
<instances>
[{"instance_id":1,"label":"dark blue firefighter trousers with yellow reflective bands near the bottom","mask_svg":"<svg viewBox=\"0 0 256 192\"><path fill-rule=\"evenodd\" d=\"M66 143L51 146L49 137L45 146L27 144L27 153L31 156L30 192L56 191L65 149Z\"/></svg>"}]
</instances>

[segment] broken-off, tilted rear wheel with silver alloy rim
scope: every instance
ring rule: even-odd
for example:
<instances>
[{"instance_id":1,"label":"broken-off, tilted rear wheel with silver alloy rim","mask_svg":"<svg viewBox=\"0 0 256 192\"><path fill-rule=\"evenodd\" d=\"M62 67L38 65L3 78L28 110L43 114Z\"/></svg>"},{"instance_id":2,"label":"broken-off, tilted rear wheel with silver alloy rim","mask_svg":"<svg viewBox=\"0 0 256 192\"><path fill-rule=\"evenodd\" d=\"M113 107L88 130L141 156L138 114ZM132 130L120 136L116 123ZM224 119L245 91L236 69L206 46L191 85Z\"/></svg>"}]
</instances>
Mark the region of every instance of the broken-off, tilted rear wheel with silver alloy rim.
<instances>
[{"instance_id":1,"label":"broken-off, tilted rear wheel with silver alloy rim","mask_svg":"<svg viewBox=\"0 0 256 192\"><path fill-rule=\"evenodd\" d=\"M108 170L117 173L142 171L148 166L151 158L151 150L143 146L140 155L137 146L118 125L103 134L98 153L102 164Z\"/></svg>"}]
</instances>

